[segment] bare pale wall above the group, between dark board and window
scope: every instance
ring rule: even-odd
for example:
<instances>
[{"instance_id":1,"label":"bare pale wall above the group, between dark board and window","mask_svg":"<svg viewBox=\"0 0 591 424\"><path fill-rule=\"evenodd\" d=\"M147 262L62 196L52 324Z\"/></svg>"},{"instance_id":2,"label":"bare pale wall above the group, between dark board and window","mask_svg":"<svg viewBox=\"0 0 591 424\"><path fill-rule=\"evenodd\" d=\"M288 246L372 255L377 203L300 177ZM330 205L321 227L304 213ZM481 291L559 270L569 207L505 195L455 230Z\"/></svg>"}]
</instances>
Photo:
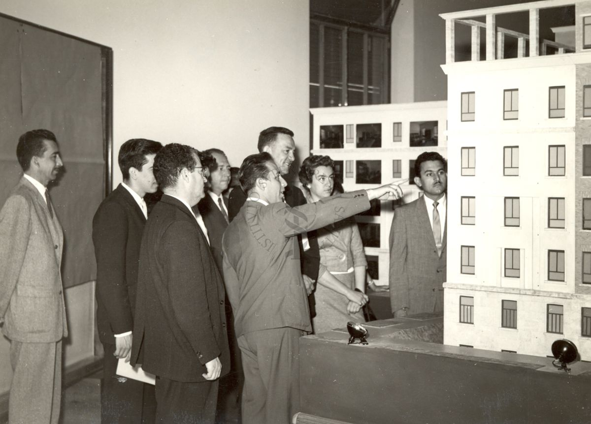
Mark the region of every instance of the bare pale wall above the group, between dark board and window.
<instances>
[{"instance_id":1,"label":"bare pale wall above the group, between dark board and window","mask_svg":"<svg viewBox=\"0 0 591 424\"><path fill-rule=\"evenodd\" d=\"M240 166L271 125L308 155L307 0L4 0L0 12L113 48L115 155L144 137L216 146Z\"/></svg>"}]
</instances>

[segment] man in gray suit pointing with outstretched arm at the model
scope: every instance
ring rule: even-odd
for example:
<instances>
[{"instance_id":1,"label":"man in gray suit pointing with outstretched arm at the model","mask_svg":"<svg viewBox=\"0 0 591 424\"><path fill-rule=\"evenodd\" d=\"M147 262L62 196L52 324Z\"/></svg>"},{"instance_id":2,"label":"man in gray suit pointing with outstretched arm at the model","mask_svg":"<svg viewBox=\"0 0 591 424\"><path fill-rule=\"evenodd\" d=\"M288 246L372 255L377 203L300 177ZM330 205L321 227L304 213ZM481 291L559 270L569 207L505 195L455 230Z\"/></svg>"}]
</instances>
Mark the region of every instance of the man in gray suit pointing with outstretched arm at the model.
<instances>
[{"instance_id":1,"label":"man in gray suit pointing with outstretched arm at the model","mask_svg":"<svg viewBox=\"0 0 591 424\"><path fill-rule=\"evenodd\" d=\"M311 331L297 234L369 209L395 185L340 194L291 208L287 183L267 152L250 155L239 171L246 203L223 237L223 269L242 351L244 424L290 423L300 409L298 338Z\"/></svg>"}]
</instances>

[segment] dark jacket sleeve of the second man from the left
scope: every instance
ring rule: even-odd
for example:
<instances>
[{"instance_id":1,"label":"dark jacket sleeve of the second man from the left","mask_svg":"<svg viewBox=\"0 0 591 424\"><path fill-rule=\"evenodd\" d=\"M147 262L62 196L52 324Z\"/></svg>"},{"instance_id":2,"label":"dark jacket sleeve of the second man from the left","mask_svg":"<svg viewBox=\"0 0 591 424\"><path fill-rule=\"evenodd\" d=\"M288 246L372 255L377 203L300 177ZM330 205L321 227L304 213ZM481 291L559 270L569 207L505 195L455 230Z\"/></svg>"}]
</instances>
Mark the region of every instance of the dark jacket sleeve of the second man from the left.
<instances>
[{"instance_id":1,"label":"dark jacket sleeve of the second man from the left","mask_svg":"<svg viewBox=\"0 0 591 424\"><path fill-rule=\"evenodd\" d=\"M96 257L96 296L105 306L111 331L132 331L134 322L129 301L125 263L128 221L121 205L109 202L96 212L92 223L92 240Z\"/></svg>"}]
</instances>

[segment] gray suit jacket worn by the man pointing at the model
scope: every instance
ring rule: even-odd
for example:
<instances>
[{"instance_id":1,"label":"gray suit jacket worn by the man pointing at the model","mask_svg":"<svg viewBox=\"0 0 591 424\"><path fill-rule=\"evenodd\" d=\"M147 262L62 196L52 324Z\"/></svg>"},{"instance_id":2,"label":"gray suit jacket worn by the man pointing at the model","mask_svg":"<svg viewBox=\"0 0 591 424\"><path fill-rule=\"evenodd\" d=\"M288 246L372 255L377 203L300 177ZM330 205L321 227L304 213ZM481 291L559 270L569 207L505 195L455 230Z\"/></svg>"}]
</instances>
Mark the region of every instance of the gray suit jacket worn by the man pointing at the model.
<instances>
[{"instance_id":1,"label":"gray suit jacket worn by the man pointing at the model","mask_svg":"<svg viewBox=\"0 0 591 424\"><path fill-rule=\"evenodd\" d=\"M268 328L310 331L297 234L369 208L365 190L288 207L248 201L223 236L223 270L236 336Z\"/></svg>"}]
</instances>

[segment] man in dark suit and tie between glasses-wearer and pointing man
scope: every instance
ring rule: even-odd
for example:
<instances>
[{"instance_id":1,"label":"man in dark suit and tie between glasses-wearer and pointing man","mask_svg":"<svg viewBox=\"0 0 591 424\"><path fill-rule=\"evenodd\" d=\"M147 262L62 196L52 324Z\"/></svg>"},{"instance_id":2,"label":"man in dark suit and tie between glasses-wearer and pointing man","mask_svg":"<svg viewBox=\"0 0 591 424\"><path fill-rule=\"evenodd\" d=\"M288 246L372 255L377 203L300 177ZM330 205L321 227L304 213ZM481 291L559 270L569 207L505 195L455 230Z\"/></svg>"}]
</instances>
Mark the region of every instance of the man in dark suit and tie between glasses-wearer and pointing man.
<instances>
[{"instance_id":1,"label":"man in dark suit and tie between glasses-wearer and pointing man","mask_svg":"<svg viewBox=\"0 0 591 424\"><path fill-rule=\"evenodd\" d=\"M209 190L205 197L193 206L193 212L201 214L207 229L209 244L217 269L222 273L222 236L228 227L228 201L222 193L228 189L230 182L230 164L228 157L220 149L207 149L205 154L212 156L214 161L209 165ZM203 162L202 162L203 163ZM239 392L242 386L242 365L240 350L236 344L233 329L232 308L226 297L226 324L228 324L228 341L230 347L230 373L220 379L219 396L217 402L217 418L225 420L228 417L240 415Z\"/></svg>"}]
</instances>

